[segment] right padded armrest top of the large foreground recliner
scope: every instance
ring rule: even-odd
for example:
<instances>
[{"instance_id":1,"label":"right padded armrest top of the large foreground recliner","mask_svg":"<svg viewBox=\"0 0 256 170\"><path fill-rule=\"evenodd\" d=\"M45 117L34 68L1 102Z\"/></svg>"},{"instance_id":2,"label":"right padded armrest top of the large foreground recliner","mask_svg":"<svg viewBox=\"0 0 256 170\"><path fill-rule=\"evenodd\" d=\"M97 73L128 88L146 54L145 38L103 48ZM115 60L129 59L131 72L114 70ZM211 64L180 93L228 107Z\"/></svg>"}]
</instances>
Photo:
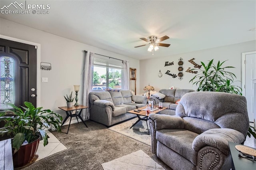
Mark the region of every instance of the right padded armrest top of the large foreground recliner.
<instances>
[{"instance_id":1,"label":"right padded armrest top of the large foreground recliner","mask_svg":"<svg viewBox=\"0 0 256 170\"><path fill-rule=\"evenodd\" d=\"M241 144L244 142L244 139L244 134L237 130L231 128L212 128L196 136L192 143L192 148L198 151L204 146L212 146L228 155L228 141Z\"/></svg>"}]
</instances>

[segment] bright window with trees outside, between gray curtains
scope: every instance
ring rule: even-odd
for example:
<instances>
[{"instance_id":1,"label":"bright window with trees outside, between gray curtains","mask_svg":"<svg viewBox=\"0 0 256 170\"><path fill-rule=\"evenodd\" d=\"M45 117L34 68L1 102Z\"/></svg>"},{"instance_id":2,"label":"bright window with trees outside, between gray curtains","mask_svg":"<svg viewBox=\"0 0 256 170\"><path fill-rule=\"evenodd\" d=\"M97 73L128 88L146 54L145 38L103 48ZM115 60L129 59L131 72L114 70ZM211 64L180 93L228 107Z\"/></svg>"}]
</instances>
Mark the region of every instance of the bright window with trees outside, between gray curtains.
<instances>
[{"instance_id":1,"label":"bright window with trees outside, between gray curtains","mask_svg":"<svg viewBox=\"0 0 256 170\"><path fill-rule=\"evenodd\" d=\"M123 62L95 54L92 90L122 89Z\"/></svg>"}]
</instances>

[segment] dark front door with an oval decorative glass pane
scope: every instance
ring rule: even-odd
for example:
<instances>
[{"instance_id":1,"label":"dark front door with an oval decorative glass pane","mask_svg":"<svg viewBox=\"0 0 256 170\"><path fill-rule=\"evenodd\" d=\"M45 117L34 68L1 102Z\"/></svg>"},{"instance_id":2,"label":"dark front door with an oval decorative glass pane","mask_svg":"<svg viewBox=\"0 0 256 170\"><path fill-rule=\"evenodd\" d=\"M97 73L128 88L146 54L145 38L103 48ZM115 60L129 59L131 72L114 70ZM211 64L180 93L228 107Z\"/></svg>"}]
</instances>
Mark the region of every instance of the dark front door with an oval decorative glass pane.
<instances>
[{"instance_id":1,"label":"dark front door with an oval decorative glass pane","mask_svg":"<svg viewBox=\"0 0 256 170\"><path fill-rule=\"evenodd\" d=\"M6 102L36 107L36 46L0 38L0 109Z\"/></svg>"}]
</instances>

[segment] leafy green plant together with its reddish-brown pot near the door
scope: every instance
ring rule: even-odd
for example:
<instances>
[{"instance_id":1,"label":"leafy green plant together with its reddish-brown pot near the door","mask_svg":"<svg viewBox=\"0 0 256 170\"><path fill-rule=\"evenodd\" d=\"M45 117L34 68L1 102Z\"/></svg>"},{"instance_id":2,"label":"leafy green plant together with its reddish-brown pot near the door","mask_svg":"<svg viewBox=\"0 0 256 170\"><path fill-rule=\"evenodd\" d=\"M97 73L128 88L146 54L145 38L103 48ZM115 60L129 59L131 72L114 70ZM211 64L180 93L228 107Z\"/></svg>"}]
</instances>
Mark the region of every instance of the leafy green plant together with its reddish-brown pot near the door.
<instances>
[{"instance_id":1,"label":"leafy green plant together with its reddish-brown pot near the door","mask_svg":"<svg viewBox=\"0 0 256 170\"><path fill-rule=\"evenodd\" d=\"M48 144L48 136L44 128L54 126L61 132L60 124L62 116L51 110L35 108L32 103L24 102L26 107L18 108L13 103L6 103L11 108L0 112L0 121L4 121L4 127L0 128L0 134L7 134L12 138L14 168L22 167L30 162L38 148L40 134L44 140L44 146ZM23 109L23 110L22 110ZM7 117L6 113L13 116Z\"/></svg>"}]
</instances>

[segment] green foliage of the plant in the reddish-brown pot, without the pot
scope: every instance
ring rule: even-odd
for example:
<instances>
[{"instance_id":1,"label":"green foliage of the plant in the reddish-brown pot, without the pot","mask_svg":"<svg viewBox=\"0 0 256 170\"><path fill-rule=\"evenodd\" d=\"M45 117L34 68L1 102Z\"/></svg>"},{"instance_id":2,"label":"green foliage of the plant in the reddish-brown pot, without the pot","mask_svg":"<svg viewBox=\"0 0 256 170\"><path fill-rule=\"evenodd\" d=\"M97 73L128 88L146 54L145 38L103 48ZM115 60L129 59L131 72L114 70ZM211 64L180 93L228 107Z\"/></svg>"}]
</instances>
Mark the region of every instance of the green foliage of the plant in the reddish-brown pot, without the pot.
<instances>
[{"instance_id":1,"label":"green foliage of the plant in the reddish-brown pot, without the pot","mask_svg":"<svg viewBox=\"0 0 256 170\"><path fill-rule=\"evenodd\" d=\"M22 144L31 143L38 139L38 134L44 140L44 146L48 144L46 129L54 126L61 132L60 124L62 116L51 110L43 110L42 107L35 108L32 103L24 102L26 107L16 107L13 103L6 103L11 108L0 113L0 121L4 121L4 127L0 128L0 134L7 134L12 138L13 154ZM6 113L12 116L6 116Z\"/></svg>"}]
</instances>

